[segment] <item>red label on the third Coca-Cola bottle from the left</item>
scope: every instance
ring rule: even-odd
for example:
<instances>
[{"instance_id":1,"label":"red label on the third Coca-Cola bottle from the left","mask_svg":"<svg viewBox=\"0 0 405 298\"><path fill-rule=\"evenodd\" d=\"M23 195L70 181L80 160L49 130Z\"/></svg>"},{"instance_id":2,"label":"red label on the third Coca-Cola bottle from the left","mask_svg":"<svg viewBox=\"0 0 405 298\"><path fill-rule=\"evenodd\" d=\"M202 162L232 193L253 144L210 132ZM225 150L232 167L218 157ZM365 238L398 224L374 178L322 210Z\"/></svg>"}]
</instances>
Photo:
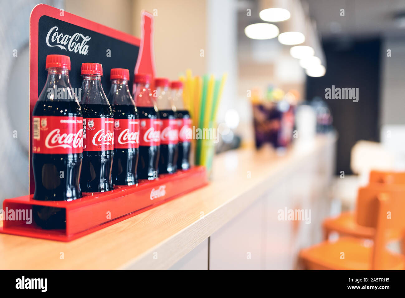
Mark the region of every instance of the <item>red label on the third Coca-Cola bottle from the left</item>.
<instances>
[{"instance_id":1,"label":"red label on the third Coca-Cola bottle from the left","mask_svg":"<svg viewBox=\"0 0 405 298\"><path fill-rule=\"evenodd\" d=\"M139 120L114 119L114 148L139 147Z\"/></svg>"}]
</instances>

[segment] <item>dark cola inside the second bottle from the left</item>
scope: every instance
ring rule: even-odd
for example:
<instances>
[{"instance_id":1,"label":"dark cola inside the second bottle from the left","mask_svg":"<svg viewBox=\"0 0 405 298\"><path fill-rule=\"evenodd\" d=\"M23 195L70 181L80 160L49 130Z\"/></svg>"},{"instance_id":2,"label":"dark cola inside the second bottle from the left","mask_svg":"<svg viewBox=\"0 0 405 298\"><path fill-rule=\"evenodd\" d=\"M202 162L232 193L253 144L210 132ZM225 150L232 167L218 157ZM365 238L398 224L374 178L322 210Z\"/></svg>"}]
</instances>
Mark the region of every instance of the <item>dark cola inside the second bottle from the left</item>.
<instances>
[{"instance_id":1,"label":"dark cola inside the second bottle from the left","mask_svg":"<svg viewBox=\"0 0 405 298\"><path fill-rule=\"evenodd\" d=\"M83 118L113 118L109 105L82 104ZM85 193L113 190L111 169L114 150L85 151L81 167L80 187Z\"/></svg>"}]
</instances>

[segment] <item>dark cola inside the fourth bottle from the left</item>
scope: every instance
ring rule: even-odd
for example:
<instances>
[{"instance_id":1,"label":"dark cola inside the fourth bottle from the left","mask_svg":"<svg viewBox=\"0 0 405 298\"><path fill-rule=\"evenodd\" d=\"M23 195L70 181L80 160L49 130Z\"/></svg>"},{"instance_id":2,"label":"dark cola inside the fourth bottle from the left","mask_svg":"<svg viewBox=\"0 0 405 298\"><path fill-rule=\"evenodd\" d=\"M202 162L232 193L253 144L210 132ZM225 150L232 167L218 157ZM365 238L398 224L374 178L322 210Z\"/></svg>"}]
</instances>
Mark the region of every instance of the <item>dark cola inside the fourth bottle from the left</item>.
<instances>
[{"instance_id":1,"label":"dark cola inside the fourth bottle from the left","mask_svg":"<svg viewBox=\"0 0 405 298\"><path fill-rule=\"evenodd\" d=\"M153 107L137 107L139 119L158 119ZM142 137L142 136L140 136ZM138 179L153 180L158 178L158 161L160 146L139 146L139 159L136 173Z\"/></svg>"}]
</instances>

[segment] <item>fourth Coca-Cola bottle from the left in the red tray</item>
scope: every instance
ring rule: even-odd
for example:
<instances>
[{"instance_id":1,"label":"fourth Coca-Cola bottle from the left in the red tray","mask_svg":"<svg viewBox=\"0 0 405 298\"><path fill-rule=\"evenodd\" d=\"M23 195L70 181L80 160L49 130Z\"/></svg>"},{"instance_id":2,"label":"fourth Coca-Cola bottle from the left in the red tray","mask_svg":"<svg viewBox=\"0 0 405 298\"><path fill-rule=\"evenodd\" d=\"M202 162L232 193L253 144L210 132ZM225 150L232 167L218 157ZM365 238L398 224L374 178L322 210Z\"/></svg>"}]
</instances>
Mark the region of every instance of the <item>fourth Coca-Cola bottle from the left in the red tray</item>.
<instances>
[{"instance_id":1,"label":"fourth Coca-Cola bottle from the left in the red tray","mask_svg":"<svg viewBox=\"0 0 405 298\"><path fill-rule=\"evenodd\" d=\"M149 84L151 77L136 74L134 101L139 113L139 160L136 172L139 179L158 177L160 151L159 112L152 98Z\"/></svg>"}]
</instances>

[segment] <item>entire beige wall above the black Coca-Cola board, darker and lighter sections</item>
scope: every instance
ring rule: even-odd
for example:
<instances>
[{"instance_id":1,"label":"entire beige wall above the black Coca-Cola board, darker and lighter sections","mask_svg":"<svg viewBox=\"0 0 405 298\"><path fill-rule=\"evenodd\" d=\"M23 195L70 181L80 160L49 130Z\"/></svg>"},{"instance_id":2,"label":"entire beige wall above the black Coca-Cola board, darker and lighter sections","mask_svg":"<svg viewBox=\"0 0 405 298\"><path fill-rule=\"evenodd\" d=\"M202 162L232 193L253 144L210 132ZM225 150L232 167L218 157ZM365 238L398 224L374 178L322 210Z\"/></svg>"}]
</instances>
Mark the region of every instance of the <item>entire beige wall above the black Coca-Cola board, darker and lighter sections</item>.
<instances>
[{"instance_id":1,"label":"entire beige wall above the black Coca-Cola board, darker and lighter sections","mask_svg":"<svg viewBox=\"0 0 405 298\"><path fill-rule=\"evenodd\" d=\"M190 68L205 73L205 0L66 0L66 11L141 37L141 10L155 16L157 75L177 79ZM205 53L207 54L207 53Z\"/></svg>"}]
</instances>

